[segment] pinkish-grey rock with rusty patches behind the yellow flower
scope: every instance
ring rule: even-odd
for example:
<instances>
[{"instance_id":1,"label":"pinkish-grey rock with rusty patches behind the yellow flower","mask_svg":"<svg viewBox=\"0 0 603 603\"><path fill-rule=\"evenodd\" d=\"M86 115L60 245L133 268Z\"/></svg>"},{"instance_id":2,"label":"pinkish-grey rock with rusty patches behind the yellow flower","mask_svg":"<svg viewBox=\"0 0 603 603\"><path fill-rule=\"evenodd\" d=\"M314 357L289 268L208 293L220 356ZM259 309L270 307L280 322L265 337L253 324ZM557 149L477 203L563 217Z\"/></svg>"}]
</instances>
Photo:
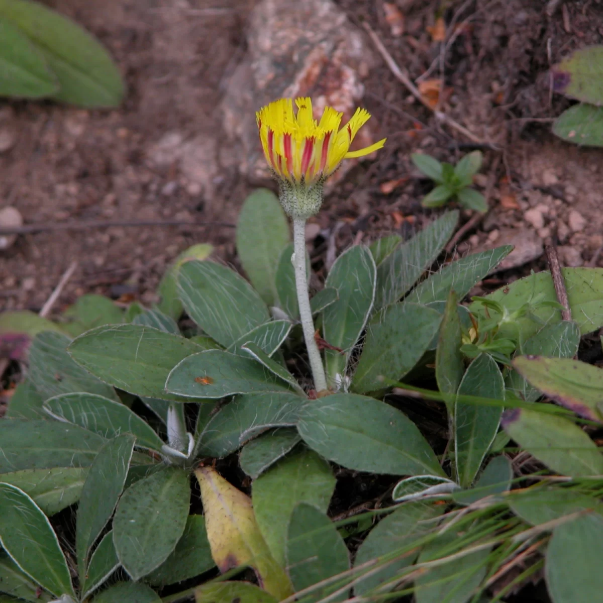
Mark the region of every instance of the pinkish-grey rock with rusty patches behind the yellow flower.
<instances>
[{"instance_id":1,"label":"pinkish-grey rock with rusty patches behind the yellow flower","mask_svg":"<svg viewBox=\"0 0 603 603\"><path fill-rule=\"evenodd\" d=\"M330 105L349 119L364 95L361 80L374 57L364 35L332 0L262 0L251 13L247 41L247 55L227 84L224 129L241 174L264 180L271 175L254 112L277 98L311 96L315 118ZM372 142L369 122L353 148ZM331 185L350 165L344 162Z\"/></svg>"}]
</instances>

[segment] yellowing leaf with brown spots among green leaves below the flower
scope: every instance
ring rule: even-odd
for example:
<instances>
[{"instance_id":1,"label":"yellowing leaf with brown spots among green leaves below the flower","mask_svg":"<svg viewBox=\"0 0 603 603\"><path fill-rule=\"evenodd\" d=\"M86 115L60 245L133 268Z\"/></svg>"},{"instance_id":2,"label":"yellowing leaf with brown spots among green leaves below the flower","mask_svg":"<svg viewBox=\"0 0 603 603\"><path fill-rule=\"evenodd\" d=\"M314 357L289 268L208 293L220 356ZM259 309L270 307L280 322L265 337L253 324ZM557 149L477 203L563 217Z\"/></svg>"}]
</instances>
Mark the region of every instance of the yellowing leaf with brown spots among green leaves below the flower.
<instances>
[{"instance_id":1,"label":"yellowing leaf with brown spots among green leaves below the flower","mask_svg":"<svg viewBox=\"0 0 603 603\"><path fill-rule=\"evenodd\" d=\"M256 523L251 499L211 467L199 467L195 476L201 488L207 539L221 572L250 566L259 586L279 601L292 595L291 581L274 560Z\"/></svg>"}]
</instances>

